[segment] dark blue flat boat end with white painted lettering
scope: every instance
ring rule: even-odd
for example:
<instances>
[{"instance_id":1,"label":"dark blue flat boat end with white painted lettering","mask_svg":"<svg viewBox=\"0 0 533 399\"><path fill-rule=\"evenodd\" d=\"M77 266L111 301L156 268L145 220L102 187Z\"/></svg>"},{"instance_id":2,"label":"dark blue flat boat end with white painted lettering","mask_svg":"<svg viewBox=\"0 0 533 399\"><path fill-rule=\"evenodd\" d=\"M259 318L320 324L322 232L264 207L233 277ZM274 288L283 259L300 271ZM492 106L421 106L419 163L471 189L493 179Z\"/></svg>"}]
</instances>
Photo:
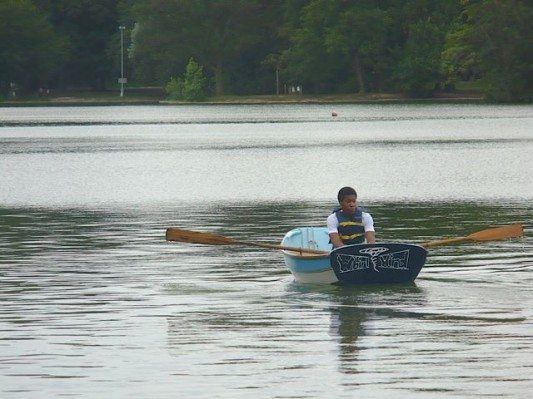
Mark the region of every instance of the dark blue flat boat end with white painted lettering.
<instances>
[{"instance_id":1,"label":"dark blue flat boat end with white painted lettering","mask_svg":"<svg viewBox=\"0 0 533 399\"><path fill-rule=\"evenodd\" d=\"M356 244L331 252L330 263L341 284L389 284L414 281L427 251L411 244Z\"/></svg>"}]
</instances>

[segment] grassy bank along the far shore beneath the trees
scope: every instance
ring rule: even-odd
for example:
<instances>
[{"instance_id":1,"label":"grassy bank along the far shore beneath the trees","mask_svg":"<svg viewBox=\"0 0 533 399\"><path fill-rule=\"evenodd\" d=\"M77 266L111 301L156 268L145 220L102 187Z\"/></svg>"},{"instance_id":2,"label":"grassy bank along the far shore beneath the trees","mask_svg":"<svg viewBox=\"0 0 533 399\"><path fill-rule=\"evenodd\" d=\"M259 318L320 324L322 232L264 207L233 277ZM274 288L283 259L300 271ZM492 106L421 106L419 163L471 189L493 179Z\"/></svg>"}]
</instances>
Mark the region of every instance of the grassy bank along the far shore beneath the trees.
<instances>
[{"instance_id":1,"label":"grassy bank along the far shore beneath the trees","mask_svg":"<svg viewBox=\"0 0 533 399\"><path fill-rule=\"evenodd\" d=\"M182 105L182 104L358 104L397 102L481 102L483 97L476 90L461 90L439 93L431 98L415 99L394 93L369 94L316 94L316 95L249 95L216 96L199 103L168 101L161 88L126 89L124 96L119 91L63 91L47 96L26 96L0 100L0 107L9 106L104 106L104 105Z\"/></svg>"}]
</instances>

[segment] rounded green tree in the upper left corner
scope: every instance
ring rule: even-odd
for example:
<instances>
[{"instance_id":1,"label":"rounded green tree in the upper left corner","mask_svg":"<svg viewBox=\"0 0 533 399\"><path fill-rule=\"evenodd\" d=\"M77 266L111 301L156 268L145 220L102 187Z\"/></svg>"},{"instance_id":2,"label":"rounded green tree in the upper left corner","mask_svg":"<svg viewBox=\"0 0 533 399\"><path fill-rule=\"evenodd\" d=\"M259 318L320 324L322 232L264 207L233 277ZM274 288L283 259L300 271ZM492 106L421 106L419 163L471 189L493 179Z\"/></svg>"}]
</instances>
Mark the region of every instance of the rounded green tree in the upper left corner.
<instances>
[{"instance_id":1,"label":"rounded green tree in the upper left corner","mask_svg":"<svg viewBox=\"0 0 533 399\"><path fill-rule=\"evenodd\" d=\"M0 91L11 82L22 90L50 84L66 41L29 0L0 0Z\"/></svg>"}]
</instances>

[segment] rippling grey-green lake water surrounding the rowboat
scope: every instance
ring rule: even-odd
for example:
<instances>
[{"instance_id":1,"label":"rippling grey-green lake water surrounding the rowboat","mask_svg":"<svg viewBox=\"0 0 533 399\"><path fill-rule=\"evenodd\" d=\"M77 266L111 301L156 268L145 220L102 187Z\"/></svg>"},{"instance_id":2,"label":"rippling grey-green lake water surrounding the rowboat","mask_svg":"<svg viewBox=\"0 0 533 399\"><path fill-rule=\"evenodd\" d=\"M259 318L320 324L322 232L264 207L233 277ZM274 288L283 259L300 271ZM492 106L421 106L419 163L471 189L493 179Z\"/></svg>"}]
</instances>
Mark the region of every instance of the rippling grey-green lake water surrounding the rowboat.
<instances>
[{"instance_id":1,"label":"rippling grey-green lake water surrounding the rowboat","mask_svg":"<svg viewBox=\"0 0 533 399\"><path fill-rule=\"evenodd\" d=\"M338 117L332 117L335 110ZM527 398L533 107L0 108L1 398ZM353 185L412 285L293 281L279 242Z\"/></svg>"}]
</instances>

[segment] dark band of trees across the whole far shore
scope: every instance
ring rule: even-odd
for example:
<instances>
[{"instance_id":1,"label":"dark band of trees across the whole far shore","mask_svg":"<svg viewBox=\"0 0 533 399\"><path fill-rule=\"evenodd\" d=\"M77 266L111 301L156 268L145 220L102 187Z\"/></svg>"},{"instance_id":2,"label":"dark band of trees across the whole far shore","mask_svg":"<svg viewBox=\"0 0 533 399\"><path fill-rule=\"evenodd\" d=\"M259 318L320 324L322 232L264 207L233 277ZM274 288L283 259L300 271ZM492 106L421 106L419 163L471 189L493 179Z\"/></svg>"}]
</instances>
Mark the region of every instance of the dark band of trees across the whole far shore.
<instances>
[{"instance_id":1,"label":"dark band of trees across the whole far shore","mask_svg":"<svg viewBox=\"0 0 533 399\"><path fill-rule=\"evenodd\" d=\"M194 59L213 94L401 92L478 81L530 101L527 0L0 0L0 91L102 90L126 27L131 81L165 85Z\"/></svg>"}]
</instances>

